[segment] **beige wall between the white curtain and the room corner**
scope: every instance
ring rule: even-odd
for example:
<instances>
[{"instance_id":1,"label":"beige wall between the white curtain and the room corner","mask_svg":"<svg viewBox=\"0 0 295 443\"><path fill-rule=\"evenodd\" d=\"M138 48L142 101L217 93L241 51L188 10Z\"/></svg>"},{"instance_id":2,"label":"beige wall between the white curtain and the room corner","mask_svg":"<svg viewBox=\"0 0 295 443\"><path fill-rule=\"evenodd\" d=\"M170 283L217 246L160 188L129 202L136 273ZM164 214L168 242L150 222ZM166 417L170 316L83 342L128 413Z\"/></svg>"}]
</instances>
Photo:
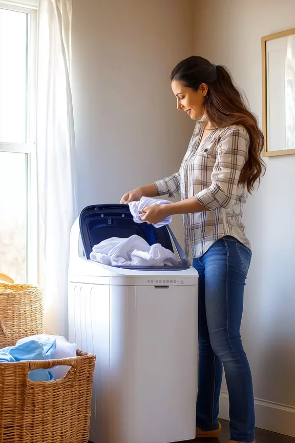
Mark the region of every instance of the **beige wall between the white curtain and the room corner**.
<instances>
[{"instance_id":1,"label":"beige wall between the white curtain and the room corner","mask_svg":"<svg viewBox=\"0 0 295 443\"><path fill-rule=\"evenodd\" d=\"M74 0L72 47L79 208L178 171L193 126L170 72L193 53L193 2Z\"/></svg>"}]
</instances>

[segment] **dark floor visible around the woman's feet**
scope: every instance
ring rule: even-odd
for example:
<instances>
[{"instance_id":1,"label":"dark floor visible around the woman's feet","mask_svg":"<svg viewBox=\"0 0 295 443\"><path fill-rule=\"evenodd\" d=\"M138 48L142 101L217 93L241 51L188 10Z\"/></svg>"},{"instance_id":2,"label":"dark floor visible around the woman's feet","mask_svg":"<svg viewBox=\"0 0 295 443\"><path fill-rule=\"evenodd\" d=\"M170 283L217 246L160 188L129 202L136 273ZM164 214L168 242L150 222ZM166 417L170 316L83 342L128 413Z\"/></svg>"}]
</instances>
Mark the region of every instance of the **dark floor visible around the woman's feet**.
<instances>
[{"instance_id":1,"label":"dark floor visible around the woman's feet","mask_svg":"<svg viewBox=\"0 0 295 443\"><path fill-rule=\"evenodd\" d=\"M227 443L229 439L228 421L220 420L222 424L222 431L219 438L198 438L195 440L182 441L181 443ZM295 438L287 437L282 434L275 434L274 432L264 431L263 429L256 429L256 443L295 443ZM89 441L91 443L91 441Z\"/></svg>"}]
</instances>

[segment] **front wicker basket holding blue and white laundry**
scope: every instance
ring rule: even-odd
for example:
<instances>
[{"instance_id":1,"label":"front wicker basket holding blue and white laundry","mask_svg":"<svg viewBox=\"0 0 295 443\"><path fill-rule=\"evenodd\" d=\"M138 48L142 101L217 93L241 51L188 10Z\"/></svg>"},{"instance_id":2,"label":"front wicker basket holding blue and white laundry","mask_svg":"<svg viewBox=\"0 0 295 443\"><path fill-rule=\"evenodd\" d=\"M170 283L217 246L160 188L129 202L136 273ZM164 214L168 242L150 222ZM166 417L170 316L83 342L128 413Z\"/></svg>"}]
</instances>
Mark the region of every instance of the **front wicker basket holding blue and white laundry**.
<instances>
[{"instance_id":1,"label":"front wicker basket holding blue and white laundry","mask_svg":"<svg viewBox=\"0 0 295 443\"><path fill-rule=\"evenodd\" d=\"M31 381L28 372L71 366L60 380ZM1 443L87 443L95 355L0 363Z\"/></svg>"}]
</instances>

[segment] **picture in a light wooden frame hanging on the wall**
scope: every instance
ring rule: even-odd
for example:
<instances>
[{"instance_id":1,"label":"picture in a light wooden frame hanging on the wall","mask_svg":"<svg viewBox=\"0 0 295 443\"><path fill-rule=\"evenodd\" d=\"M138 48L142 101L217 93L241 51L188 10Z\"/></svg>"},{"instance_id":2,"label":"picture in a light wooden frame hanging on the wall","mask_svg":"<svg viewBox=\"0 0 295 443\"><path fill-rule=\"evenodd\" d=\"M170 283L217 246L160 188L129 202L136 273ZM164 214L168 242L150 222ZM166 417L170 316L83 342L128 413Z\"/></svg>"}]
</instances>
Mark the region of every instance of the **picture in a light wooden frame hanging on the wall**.
<instances>
[{"instance_id":1,"label":"picture in a light wooden frame hanging on the wall","mask_svg":"<svg viewBox=\"0 0 295 443\"><path fill-rule=\"evenodd\" d=\"M277 40L277 42L273 42L275 40ZM284 49L286 45L287 47L288 45L291 45L291 50L288 52L287 49ZM262 120L263 120L263 133L265 137L263 156L273 157L278 155L295 154L295 116L294 118L292 117L292 115L290 117L289 115L290 112L286 105L286 100L289 101L292 100L293 106L291 107L295 109L295 71L294 71L294 77L292 77L289 82L292 83L293 80L294 94L291 94L291 98L289 98L286 91L286 82L287 82L286 71L284 71L284 78L283 79L281 78L282 73L281 77L279 78L280 71L286 70L285 65L286 65L287 56L285 56L284 59L284 51L286 52L286 54L288 53L288 60L290 57L289 54L290 53L292 54L291 66L293 65L295 66L295 29L290 29L288 31L278 32L276 34L271 34L262 37L261 49L262 49L262 107L263 107ZM284 66L282 66L283 61L285 62ZM290 60L289 60L289 65L290 65ZM289 89L288 86L289 83L287 83L288 89ZM271 93L269 92L269 90L273 91L274 95L272 98L270 96ZM278 96L280 90L281 94L280 96ZM282 93L284 95L283 97ZM280 100L281 100L281 106L280 105L278 106ZM283 102L285 103L284 109L283 109ZM277 107L278 109L276 109ZM283 112L280 112L280 109L281 110L283 109ZM285 112L284 114L285 117L282 117L282 114L284 112ZM280 117L279 123L271 124L270 120L272 120L272 122L278 121L278 119L276 119L276 115ZM290 118L291 118L291 128L294 129L294 135L292 135L293 131L287 131L288 125L286 123L286 120L288 119L290 121ZM283 119L285 122L285 127L283 124ZM272 133L274 134L274 136L272 137L272 140L271 140L270 128L273 128ZM283 147L281 149L272 149L272 146L274 147L283 146ZM291 147L294 146L294 148L290 149L289 146Z\"/></svg>"}]
</instances>

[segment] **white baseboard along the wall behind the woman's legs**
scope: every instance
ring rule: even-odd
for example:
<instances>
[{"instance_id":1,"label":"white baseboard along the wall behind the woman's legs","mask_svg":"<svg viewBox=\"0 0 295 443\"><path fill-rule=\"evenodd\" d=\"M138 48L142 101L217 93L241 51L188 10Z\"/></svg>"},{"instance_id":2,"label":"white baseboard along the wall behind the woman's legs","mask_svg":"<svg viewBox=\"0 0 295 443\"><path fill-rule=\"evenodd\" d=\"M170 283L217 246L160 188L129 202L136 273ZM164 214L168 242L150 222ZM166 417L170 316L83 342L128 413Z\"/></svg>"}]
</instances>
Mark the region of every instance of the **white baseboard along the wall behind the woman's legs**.
<instances>
[{"instance_id":1,"label":"white baseboard along the wall behind the woman's legs","mask_svg":"<svg viewBox=\"0 0 295 443\"><path fill-rule=\"evenodd\" d=\"M295 437L295 408L255 399L257 428ZM221 392L219 418L228 420L228 394Z\"/></svg>"}]
</instances>

